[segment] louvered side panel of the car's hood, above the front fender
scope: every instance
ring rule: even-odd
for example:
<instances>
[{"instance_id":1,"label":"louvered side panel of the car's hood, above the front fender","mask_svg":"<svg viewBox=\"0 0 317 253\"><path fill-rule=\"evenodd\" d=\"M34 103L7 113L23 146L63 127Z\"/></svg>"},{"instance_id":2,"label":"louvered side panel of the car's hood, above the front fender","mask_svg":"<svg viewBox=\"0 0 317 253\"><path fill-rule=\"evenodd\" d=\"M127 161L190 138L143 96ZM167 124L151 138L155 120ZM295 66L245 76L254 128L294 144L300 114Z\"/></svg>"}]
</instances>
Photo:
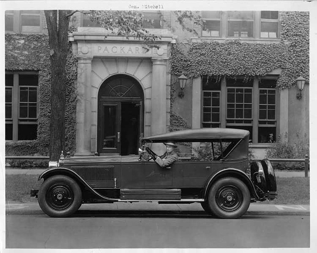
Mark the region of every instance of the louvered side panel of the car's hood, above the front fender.
<instances>
[{"instance_id":1,"label":"louvered side panel of the car's hood, above the front fender","mask_svg":"<svg viewBox=\"0 0 317 253\"><path fill-rule=\"evenodd\" d=\"M113 181L115 166L72 166L85 181Z\"/></svg>"}]
</instances>

